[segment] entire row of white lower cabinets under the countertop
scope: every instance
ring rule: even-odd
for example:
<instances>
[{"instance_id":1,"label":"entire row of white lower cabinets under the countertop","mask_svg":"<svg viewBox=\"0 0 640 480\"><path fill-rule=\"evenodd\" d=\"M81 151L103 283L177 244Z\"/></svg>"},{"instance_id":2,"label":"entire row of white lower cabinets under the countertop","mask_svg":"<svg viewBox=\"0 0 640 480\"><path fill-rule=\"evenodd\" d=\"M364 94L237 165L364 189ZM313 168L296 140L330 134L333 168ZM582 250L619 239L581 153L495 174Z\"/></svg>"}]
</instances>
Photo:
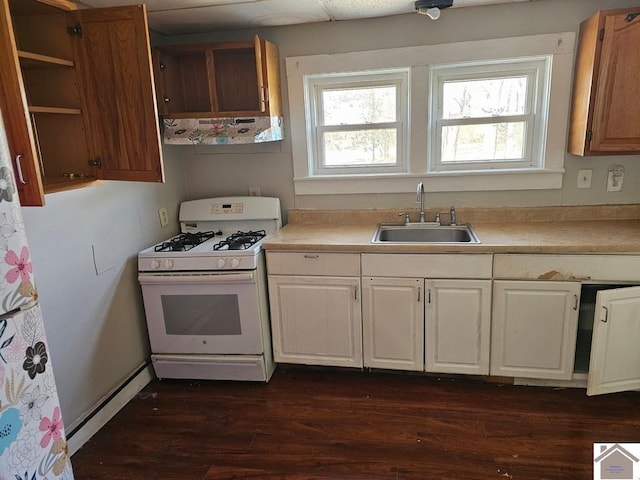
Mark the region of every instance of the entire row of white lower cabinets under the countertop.
<instances>
[{"instance_id":1,"label":"entire row of white lower cabinets under the countertop","mask_svg":"<svg viewBox=\"0 0 640 480\"><path fill-rule=\"evenodd\" d=\"M584 284L587 394L640 389L640 287L614 285L639 255L268 251L267 271L277 362L572 380Z\"/></svg>"}]
</instances>

